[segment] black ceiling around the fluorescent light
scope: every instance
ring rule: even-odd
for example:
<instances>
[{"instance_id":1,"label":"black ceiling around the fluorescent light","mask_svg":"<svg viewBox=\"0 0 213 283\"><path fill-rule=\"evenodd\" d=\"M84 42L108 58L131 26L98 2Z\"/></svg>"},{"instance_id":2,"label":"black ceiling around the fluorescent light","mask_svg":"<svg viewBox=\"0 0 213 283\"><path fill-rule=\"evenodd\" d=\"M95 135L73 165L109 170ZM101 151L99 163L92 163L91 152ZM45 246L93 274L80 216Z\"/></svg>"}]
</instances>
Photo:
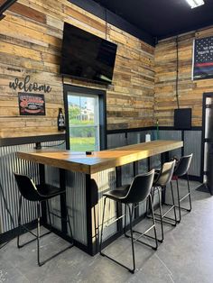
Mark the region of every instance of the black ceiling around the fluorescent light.
<instances>
[{"instance_id":1,"label":"black ceiling around the fluorescent light","mask_svg":"<svg viewBox=\"0 0 213 283\"><path fill-rule=\"evenodd\" d=\"M213 24L213 0L191 9L185 0L94 0L158 39Z\"/></svg>"}]
</instances>

